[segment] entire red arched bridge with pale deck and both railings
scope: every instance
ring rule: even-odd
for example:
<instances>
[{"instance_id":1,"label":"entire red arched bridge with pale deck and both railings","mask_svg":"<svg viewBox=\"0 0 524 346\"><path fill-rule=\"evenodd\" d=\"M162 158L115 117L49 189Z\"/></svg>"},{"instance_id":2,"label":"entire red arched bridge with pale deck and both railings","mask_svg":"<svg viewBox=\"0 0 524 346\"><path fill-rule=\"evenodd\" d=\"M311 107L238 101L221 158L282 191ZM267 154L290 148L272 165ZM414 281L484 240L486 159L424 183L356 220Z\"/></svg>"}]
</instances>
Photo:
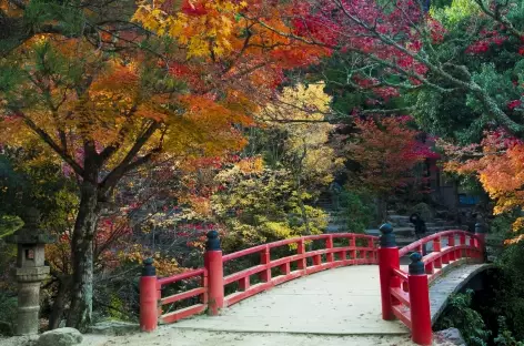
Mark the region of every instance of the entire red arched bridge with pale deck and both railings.
<instances>
[{"instance_id":1,"label":"entire red arched bridge with pale deck and both railings","mask_svg":"<svg viewBox=\"0 0 524 346\"><path fill-rule=\"evenodd\" d=\"M144 261L140 325L144 332L173 322L177 328L223 332L411 332L415 344L431 345L432 323L450 294L486 267L485 235L478 231L440 232L399 250L385 224L380 237L310 235L225 255L211 231L202 268L157 277L152 260ZM407 255L411 263L401 265ZM214 317L184 319L205 311Z\"/></svg>"}]
</instances>

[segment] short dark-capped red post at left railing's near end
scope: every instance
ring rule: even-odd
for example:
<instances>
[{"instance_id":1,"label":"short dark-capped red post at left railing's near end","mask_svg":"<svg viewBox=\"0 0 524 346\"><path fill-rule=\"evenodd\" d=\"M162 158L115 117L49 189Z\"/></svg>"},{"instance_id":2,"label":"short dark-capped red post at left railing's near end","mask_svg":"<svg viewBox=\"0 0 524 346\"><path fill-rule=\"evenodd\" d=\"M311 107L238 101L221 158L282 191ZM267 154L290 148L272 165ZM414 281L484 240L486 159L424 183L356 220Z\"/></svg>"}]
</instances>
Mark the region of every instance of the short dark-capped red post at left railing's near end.
<instances>
[{"instance_id":1,"label":"short dark-capped red post at left railing's near end","mask_svg":"<svg viewBox=\"0 0 524 346\"><path fill-rule=\"evenodd\" d=\"M153 258L145 258L140 277L140 329L142 332L153 332L159 324L160 296L157 285Z\"/></svg>"}]
</instances>

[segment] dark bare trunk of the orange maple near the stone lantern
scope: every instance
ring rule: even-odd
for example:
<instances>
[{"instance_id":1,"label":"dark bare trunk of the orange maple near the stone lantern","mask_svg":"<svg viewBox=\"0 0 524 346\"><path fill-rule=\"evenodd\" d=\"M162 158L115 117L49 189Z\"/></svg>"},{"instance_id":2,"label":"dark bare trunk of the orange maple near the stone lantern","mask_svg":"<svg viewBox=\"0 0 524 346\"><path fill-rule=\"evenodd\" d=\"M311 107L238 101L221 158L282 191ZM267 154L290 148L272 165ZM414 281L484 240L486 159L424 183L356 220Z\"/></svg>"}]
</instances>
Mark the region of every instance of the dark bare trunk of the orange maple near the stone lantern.
<instances>
[{"instance_id":1,"label":"dark bare trunk of the orange maple near the stone lantern","mask_svg":"<svg viewBox=\"0 0 524 346\"><path fill-rule=\"evenodd\" d=\"M93 237L100 213L95 183L84 181L71 243L73 275L68 327L84 332L93 307Z\"/></svg>"}]
</instances>

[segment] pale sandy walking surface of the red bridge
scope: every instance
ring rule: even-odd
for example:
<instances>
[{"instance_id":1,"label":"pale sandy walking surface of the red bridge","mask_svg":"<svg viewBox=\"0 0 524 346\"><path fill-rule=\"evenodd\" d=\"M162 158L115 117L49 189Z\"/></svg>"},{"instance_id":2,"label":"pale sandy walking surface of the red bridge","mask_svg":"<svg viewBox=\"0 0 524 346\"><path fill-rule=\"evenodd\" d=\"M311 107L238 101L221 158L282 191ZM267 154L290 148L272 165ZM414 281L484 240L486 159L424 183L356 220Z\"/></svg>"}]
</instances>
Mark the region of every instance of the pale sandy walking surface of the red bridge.
<instances>
[{"instance_id":1,"label":"pale sandy walking surface of the red bridge","mask_svg":"<svg viewBox=\"0 0 524 346\"><path fill-rule=\"evenodd\" d=\"M173 328L298 334L407 334L399 320L381 318L379 267L330 269L276 286L222 311Z\"/></svg>"}]
</instances>

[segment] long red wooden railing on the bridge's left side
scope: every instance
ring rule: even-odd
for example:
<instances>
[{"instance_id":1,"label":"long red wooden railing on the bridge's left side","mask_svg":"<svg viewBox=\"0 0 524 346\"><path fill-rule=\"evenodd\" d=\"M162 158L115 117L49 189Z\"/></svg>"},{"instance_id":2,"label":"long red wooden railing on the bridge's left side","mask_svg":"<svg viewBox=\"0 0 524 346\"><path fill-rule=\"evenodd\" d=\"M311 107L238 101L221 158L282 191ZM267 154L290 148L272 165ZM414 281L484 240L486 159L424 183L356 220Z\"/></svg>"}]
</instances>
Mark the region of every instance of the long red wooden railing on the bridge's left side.
<instances>
[{"instance_id":1,"label":"long red wooden railing on the bridge's left side","mask_svg":"<svg viewBox=\"0 0 524 346\"><path fill-rule=\"evenodd\" d=\"M319 271L346 265L376 264L377 240L375 236L353 233L320 234L283 240L222 255L218 233L211 231L208 233L203 268L158 278L152 260L144 261L144 273L140 283L141 328L150 332L157 328L159 322L172 323L204 311L216 315L223 307ZM259 256L259 264L224 275L224 265L252 256ZM254 284L253 276L256 276ZM169 289L170 285L195 279L198 287L162 296L164 288ZM228 285L235 285L236 289L225 295ZM184 304L184 307L173 306L188 299L191 301Z\"/></svg>"}]
</instances>

